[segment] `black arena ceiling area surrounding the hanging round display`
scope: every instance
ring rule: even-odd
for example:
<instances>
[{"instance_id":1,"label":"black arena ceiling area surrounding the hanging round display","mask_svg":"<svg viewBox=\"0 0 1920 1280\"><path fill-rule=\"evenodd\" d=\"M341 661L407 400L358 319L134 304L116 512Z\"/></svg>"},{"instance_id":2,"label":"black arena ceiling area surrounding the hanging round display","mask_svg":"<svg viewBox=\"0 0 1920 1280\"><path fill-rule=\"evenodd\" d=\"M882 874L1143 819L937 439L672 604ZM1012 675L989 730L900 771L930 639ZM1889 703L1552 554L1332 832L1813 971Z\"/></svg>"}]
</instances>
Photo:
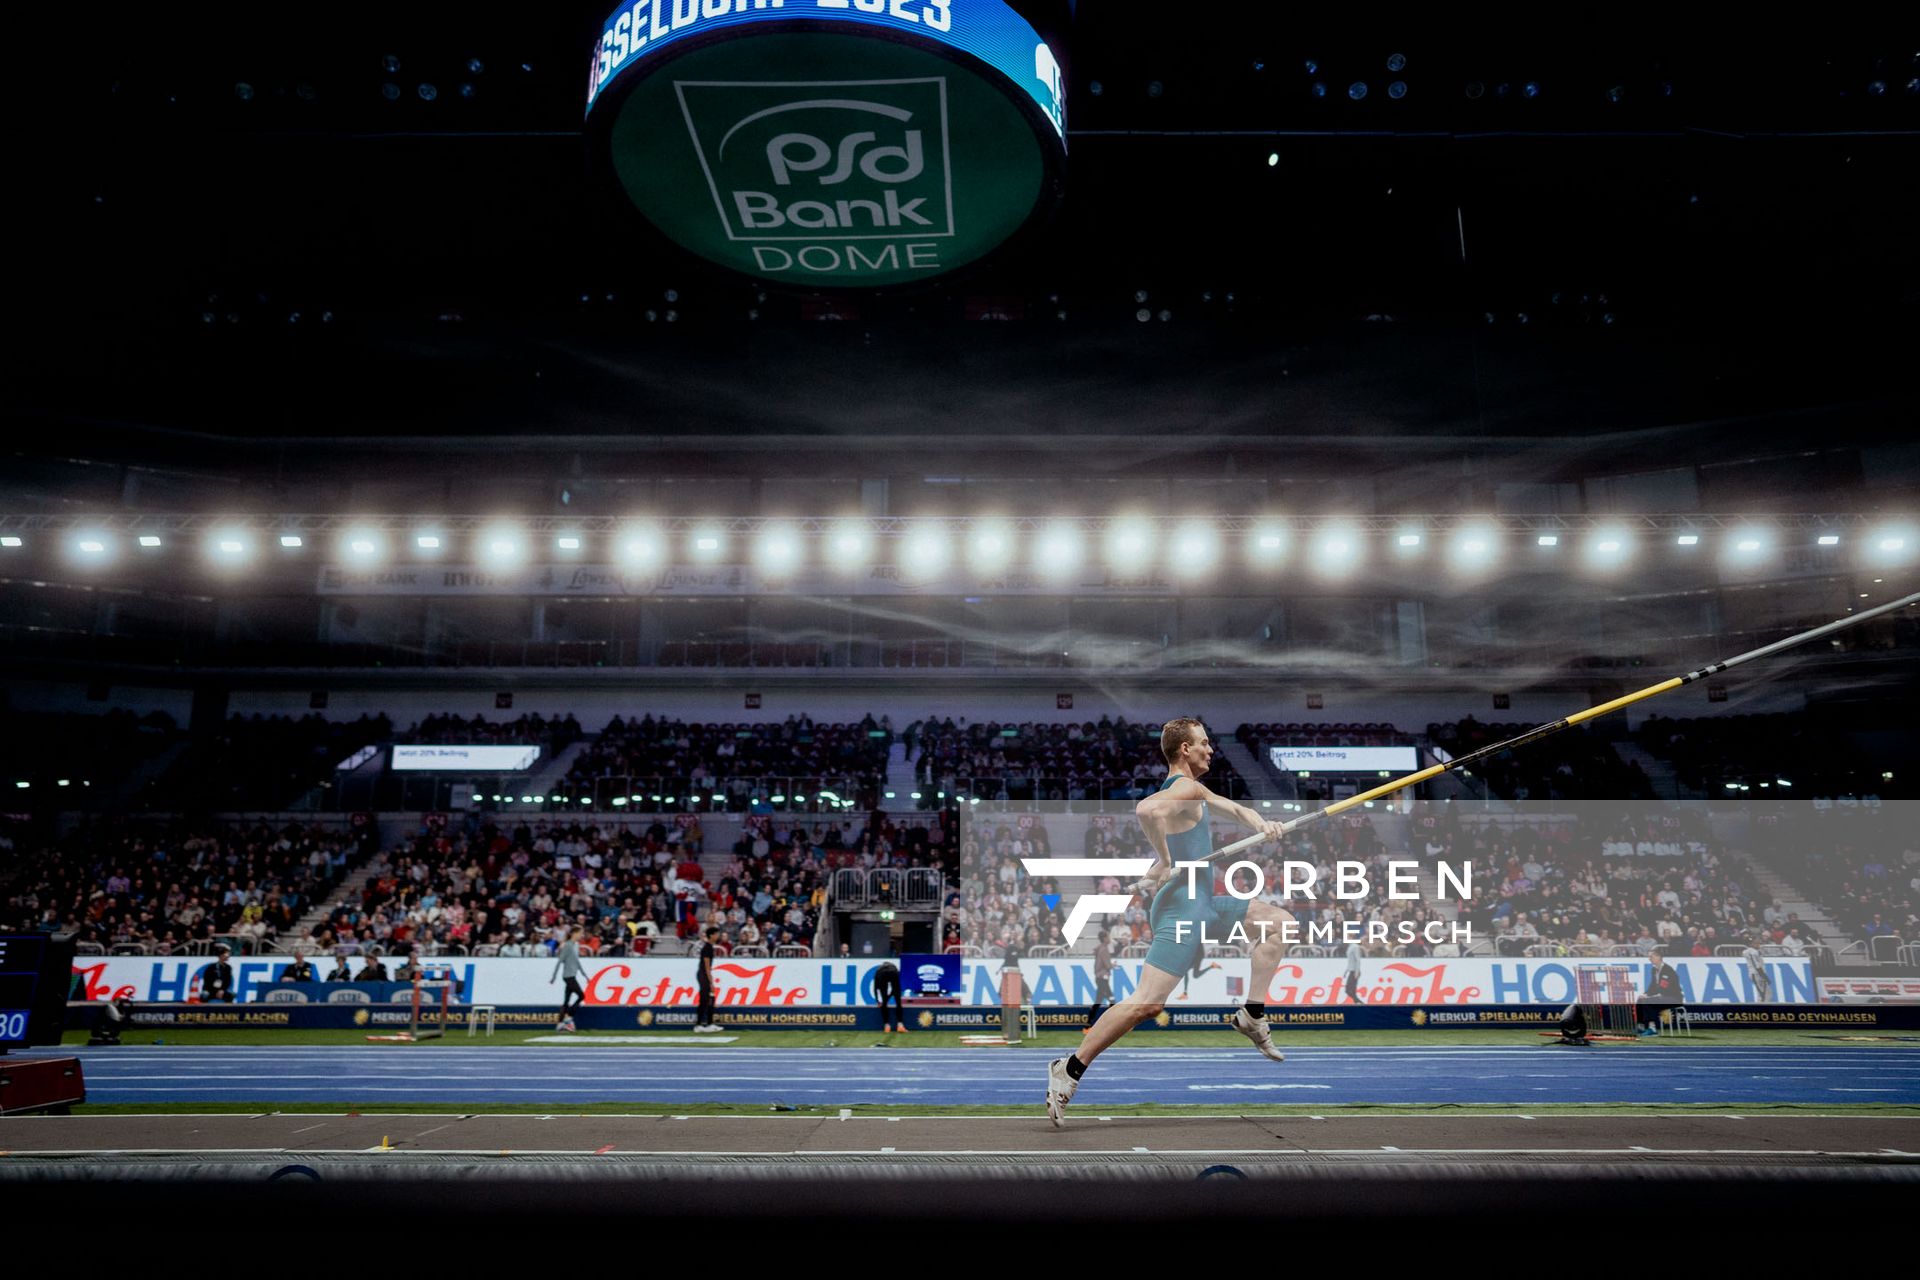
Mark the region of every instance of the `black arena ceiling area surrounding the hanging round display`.
<instances>
[{"instance_id":1,"label":"black arena ceiling area surrounding the hanging round display","mask_svg":"<svg viewBox=\"0 0 1920 1280\"><path fill-rule=\"evenodd\" d=\"M589 177L605 8L42 17L15 459L1912 438L1920 23L1025 4L1068 52L1064 201L881 297L728 276Z\"/></svg>"}]
</instances>

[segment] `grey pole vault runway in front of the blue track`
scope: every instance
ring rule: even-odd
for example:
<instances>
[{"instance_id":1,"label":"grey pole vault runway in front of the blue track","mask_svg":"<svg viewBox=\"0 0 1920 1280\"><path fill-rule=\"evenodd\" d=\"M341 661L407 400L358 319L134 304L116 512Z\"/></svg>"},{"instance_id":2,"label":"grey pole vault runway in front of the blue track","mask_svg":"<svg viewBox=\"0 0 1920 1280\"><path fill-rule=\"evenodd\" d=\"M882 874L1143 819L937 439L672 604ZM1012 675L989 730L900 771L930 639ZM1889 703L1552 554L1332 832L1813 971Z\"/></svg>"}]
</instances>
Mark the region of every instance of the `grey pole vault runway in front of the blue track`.
<instances>
[{"instance_id":1,"label":"grey pole vault runway in front of the blue track","mask_svg":"<svg viewBox=\"0 0 1920 1280\"><path fill-rule=\"evenodd\" d=\"M79 1115L0 1121L0 1176L86 1169L221 1171L311 1165L403 1176L449 1167L572 1167L601 1174L1117 1167L1246 1173L1488 1165L1874 1169L1920 1178L1920 1117L1907 1115Z\"/></svg>"}]
</instances>

